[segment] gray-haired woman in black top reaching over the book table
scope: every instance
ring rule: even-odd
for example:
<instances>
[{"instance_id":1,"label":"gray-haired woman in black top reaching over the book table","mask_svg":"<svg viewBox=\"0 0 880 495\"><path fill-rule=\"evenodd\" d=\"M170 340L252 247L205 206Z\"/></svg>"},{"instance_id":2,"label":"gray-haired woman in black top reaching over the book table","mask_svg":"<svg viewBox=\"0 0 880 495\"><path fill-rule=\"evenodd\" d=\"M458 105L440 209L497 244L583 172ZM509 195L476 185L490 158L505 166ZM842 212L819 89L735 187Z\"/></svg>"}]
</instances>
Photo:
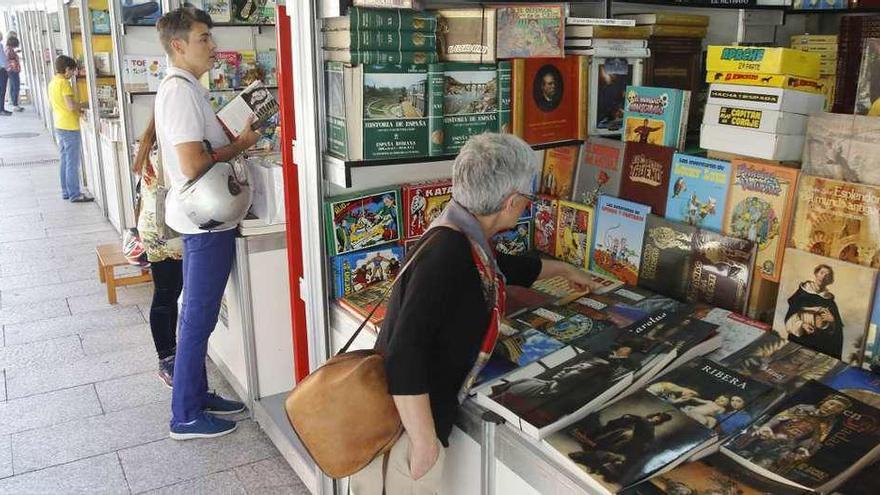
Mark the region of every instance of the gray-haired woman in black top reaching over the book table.
<instances>
[{"instance_id":1,"label":"gray-haired woman in black top reaching over the book table","mask_svg":"<svg viewBox=\"0 0 880 495\"><path fill-rule=\"evenodd\" d=\"M351 478L355 495L436 493L458 407L488 358L504 285L587 275L559 261L494 254L489 239L516 225L538 173L532 149L509 134L471 138L455 159L452 201L391 293L376 344L405 432L389 454ZM496 311L498 308L500 311Z\"/></svg>"}]
</instances>

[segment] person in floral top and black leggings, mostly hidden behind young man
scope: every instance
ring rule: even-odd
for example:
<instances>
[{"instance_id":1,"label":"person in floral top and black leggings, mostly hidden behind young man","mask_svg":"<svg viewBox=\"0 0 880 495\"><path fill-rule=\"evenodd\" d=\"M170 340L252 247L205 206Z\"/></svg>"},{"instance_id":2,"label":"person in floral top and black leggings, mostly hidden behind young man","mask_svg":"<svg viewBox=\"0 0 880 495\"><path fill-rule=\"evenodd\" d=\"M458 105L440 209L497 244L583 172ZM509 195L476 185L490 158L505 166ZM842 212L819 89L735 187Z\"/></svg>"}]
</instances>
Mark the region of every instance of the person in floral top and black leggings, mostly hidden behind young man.
<instances>
[{"instance_id":1,"label":"person in floral top and black leggings, mostly hidden behind young man","mask_svg":"<svg viewBox=\"0 0 880 495\"><path fill-rule=\"evenodd\" d=\"M157 225L156 212L144 205L155 205L159 145L156 123L150 119L141 136L134 159L134 173L141 177L141 208L137 218L138 233L147 252L153 273L153 304L150 306L150 332L159 355L159 379L171 388L174 377L174 352L177 349L177 298L183 289L183 240L163 235L169 229ZM164 221L164 219L163 219Z\"/></svg>"}]
</instances>

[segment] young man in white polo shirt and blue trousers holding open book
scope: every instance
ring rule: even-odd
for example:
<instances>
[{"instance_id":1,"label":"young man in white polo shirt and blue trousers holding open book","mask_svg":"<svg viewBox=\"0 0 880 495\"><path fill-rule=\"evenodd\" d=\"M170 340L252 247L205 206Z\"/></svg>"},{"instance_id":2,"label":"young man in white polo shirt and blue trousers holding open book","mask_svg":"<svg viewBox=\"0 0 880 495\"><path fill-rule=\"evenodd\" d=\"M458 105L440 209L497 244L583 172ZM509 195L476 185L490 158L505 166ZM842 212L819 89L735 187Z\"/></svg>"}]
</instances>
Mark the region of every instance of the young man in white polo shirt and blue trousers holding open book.
<instances>
[{"instance_id":1,"label":"young man in white polo shirt and blue trousers holding open book","mask_svg":"<svg viewBox=\"0 0 880 495\"><path fill-rule=\"evenodd\" d=\"M178 193L188 180L199 177L215 162L231 160L253 146L259 134L248 129L230 142L214 115L208 91L198 82L213 66L217 49L208 14L179 8L162 16L156 27L171 62L156 94L155 107L156 137L166 181L171 185L165 222L182 234L184 245L171 438L217 437L235 430L235 423L215 415L244 410L240 402L209 393L205 375L208 337L217 324L235 255L235 229L200 229L184 213Z\"/></svg>"}]
</instances>

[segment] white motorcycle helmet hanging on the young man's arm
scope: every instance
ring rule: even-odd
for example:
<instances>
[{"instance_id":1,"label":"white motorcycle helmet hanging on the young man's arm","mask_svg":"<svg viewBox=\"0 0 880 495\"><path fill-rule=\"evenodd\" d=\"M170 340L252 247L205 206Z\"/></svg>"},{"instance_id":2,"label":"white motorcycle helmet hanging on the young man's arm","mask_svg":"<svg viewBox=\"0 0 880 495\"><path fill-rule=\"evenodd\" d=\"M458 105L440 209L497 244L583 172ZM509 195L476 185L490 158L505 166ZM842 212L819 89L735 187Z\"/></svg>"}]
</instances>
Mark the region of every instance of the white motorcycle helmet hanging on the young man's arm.
<instances>
[{"instance_id":1,"label":"white motorcycle helmet hanging on the young man's arm","mask_svg":"<svg viewBox=\"0 0 880 495\"><path fill-rule=\"evenodd\" d=\"M224 230L247 215L253 191L243 164L217 162L184 184L179 198L186 216L200 229Z\"/></svg>"}]
</instances>

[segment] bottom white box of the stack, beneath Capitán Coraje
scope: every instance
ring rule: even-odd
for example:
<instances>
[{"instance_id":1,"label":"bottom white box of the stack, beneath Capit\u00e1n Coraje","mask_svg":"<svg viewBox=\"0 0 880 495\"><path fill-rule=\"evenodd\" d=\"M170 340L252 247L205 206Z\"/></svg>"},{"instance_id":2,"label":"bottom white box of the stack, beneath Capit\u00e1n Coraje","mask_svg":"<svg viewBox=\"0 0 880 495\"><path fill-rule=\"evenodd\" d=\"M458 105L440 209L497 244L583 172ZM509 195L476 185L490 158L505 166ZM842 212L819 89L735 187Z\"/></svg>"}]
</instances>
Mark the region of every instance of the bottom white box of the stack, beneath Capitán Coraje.
<instances>
[{"instance_id":1,"label":"bottom white box of the stack, beneath Capit\u00e1n Coraje","mask_svg":"<svg viewBox=\"0 0 880 495\"><path fill-rule=\"evenodd\" d=\"M703 124L700 147L765 160L795 161L803 152L804 136Z\"/></svg>"}]
</instances>

